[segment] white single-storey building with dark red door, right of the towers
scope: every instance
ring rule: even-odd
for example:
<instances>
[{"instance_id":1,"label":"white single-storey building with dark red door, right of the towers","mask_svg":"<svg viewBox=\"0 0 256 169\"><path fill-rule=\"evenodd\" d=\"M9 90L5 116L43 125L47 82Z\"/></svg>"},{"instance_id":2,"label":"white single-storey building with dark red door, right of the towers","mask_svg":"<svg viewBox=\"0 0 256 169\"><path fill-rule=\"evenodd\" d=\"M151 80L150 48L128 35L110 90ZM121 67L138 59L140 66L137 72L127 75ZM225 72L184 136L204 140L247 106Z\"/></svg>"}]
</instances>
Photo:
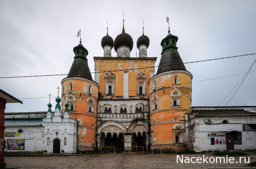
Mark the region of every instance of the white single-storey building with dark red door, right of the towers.
<instances>
[{"instance_id":1,"label":"white single-storey building with dark red door, right of the towers","mask_svg":"<svg viewBox=\"0 0 256 169\"><path fill-rule=\"evenodd\" d=\"M199 151L256 149L256 107L192 107L185 144Z\"/></svg>"}]
</instances>

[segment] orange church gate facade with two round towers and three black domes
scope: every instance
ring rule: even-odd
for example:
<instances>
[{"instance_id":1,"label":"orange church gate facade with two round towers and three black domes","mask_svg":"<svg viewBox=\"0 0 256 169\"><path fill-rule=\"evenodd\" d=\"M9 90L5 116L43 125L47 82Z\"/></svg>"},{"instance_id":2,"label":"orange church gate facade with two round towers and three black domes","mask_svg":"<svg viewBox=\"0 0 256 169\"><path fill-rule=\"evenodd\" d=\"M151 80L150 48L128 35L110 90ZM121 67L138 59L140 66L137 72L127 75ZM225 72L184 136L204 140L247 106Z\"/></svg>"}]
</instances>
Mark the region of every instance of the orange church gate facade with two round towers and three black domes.
<instances>
[{"instance_id":1,"label":"orange church gate facade with two round towers and three black domes","mask_svg":"<svg viewBox=\"0 0 256 169\"><path fill-rule=\"evenodd\" d=\"M177 41L169 30L161 42L162 57L155 74L157 58L147 56L150 40L144 27L136 43L138 58L130 57L133 39L124 24L115 40L107 28L101 41L103 56L93 58L93 80L87 63L92 58L87 58L88 51L80 40L73 48L69 75L61 82L62 107L67 101L70 117L77 120L78 151L103 146L115 146L117 152L132 146L143 146L144 150L185 147L192 74L179 56ZM116 57L112 57L112 48Z\"/></svg>"}]
</instances>

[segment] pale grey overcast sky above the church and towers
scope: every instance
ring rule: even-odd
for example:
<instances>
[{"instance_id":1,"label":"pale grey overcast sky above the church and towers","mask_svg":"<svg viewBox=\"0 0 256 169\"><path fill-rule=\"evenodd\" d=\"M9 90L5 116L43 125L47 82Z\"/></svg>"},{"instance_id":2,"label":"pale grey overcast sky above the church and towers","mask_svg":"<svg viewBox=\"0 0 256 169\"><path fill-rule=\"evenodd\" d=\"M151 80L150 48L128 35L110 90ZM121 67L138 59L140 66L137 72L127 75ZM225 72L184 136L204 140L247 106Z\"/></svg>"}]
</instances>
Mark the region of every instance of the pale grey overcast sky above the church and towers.
<instances>
[{"instance_id":1,"label":"pale grey overcast sky above the church and towers","mask_svg":"<svg viewBox=\"0 0 256 169\"><path fill-rule=\"evenodd\" d=\"M106 35L106 21L109 35L115 39L122 32L123 10L125 30L134 41L131 57L135 57L144 20L144 32L150 39L148 57L158 57L156 66L161 59L160 42L168 33L166 16L170 18L171 34L179 37L177 47L183 62L256 53L255 7L255 0L1 0L0 77L67 74L73 62L73 47L79 43L79 28L93 72L93 56L103 56L100 42ZM116 57L114 49L112 57ZM247 72L255 58L252 55L185 66L194 82ZM219 105L242 76L194 82L192 106ZM0 79L0 88L24 103L9 103L6 112L47 111L47 98L22 98L47 97L49 93L57 96L56 87L65 77ZM256 105L255 85L253 72L228 105Z\"/></svg>"}]
</instances>

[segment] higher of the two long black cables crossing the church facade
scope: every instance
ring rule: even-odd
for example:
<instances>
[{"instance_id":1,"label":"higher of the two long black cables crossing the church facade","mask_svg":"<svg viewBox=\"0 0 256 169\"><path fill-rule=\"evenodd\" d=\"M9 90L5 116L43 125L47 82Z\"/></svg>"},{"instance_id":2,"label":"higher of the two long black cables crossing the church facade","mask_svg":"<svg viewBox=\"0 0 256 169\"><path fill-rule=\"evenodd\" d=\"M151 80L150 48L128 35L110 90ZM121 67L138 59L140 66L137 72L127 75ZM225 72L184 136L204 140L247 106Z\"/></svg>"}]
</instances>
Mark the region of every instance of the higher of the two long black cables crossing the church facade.
<instances>
[{"instance_id":1,"label":"higher of the two long black cables crossing the church facade","mask_svg":"<svg viewBox=\"0 0 256 169\"><path fill-rule=\"evenodd\" d=\"M245 54L245 55L238 55L238 56L229 56L225 58L215 58L215 59L208 59L208 60L199 60L199 61L193 61L193 62L185 62L185 63L179 63L179 64L170 64L170 65L161 65L161 66L150 66L150 67L144 67L144 68L132 68L132 69L124 69L124 70L113 70L113 71L102 71L102 72L84 72L84 73L77 73L77 74L95 74L95 73L104 73L104 72L118 72L118 71L129 71L129 70L139 70L139 69L146 69L146 68L158 68L163 66L174 66L174 65L181 65L181 64L192 64L197 62L206 62L206 61L213 61L213 60L221 60L221 59L228 59L228 58L236 58L236 57L242 57L242 56L250 56L255 55L253 54ZM53 74L53 75L33 75L33 76L9 76L9 77L0 77L0 78L29 78L29 77L44 77L44 76L64 76L64 75L75 75L75 74Z\"/></svg>"}]
</instances>

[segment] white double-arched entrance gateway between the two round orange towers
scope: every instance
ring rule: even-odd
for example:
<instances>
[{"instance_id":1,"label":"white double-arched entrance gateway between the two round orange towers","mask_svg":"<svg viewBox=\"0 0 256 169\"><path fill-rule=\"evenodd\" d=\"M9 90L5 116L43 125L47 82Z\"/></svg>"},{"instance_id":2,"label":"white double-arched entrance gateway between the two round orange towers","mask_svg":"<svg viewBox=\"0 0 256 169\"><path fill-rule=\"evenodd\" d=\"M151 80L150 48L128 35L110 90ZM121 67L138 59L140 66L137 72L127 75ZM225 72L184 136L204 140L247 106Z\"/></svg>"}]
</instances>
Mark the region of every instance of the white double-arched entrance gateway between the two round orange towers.
<instances>
[{"instance_id":1,"label":"white double-arched entrance gateway between the two round orange towers","mask_svg":"<svg viewBox=\"0 0 256 169\"><path fill-rule=\"evenodd\" d=\"M134 122L128 129L121 123L108 121L98 127L98 147L114 146L118 153L128 151L132 146L143 146L146 151L147 127L148 124L144 121Z\"/></svg>"}]
</instances>

